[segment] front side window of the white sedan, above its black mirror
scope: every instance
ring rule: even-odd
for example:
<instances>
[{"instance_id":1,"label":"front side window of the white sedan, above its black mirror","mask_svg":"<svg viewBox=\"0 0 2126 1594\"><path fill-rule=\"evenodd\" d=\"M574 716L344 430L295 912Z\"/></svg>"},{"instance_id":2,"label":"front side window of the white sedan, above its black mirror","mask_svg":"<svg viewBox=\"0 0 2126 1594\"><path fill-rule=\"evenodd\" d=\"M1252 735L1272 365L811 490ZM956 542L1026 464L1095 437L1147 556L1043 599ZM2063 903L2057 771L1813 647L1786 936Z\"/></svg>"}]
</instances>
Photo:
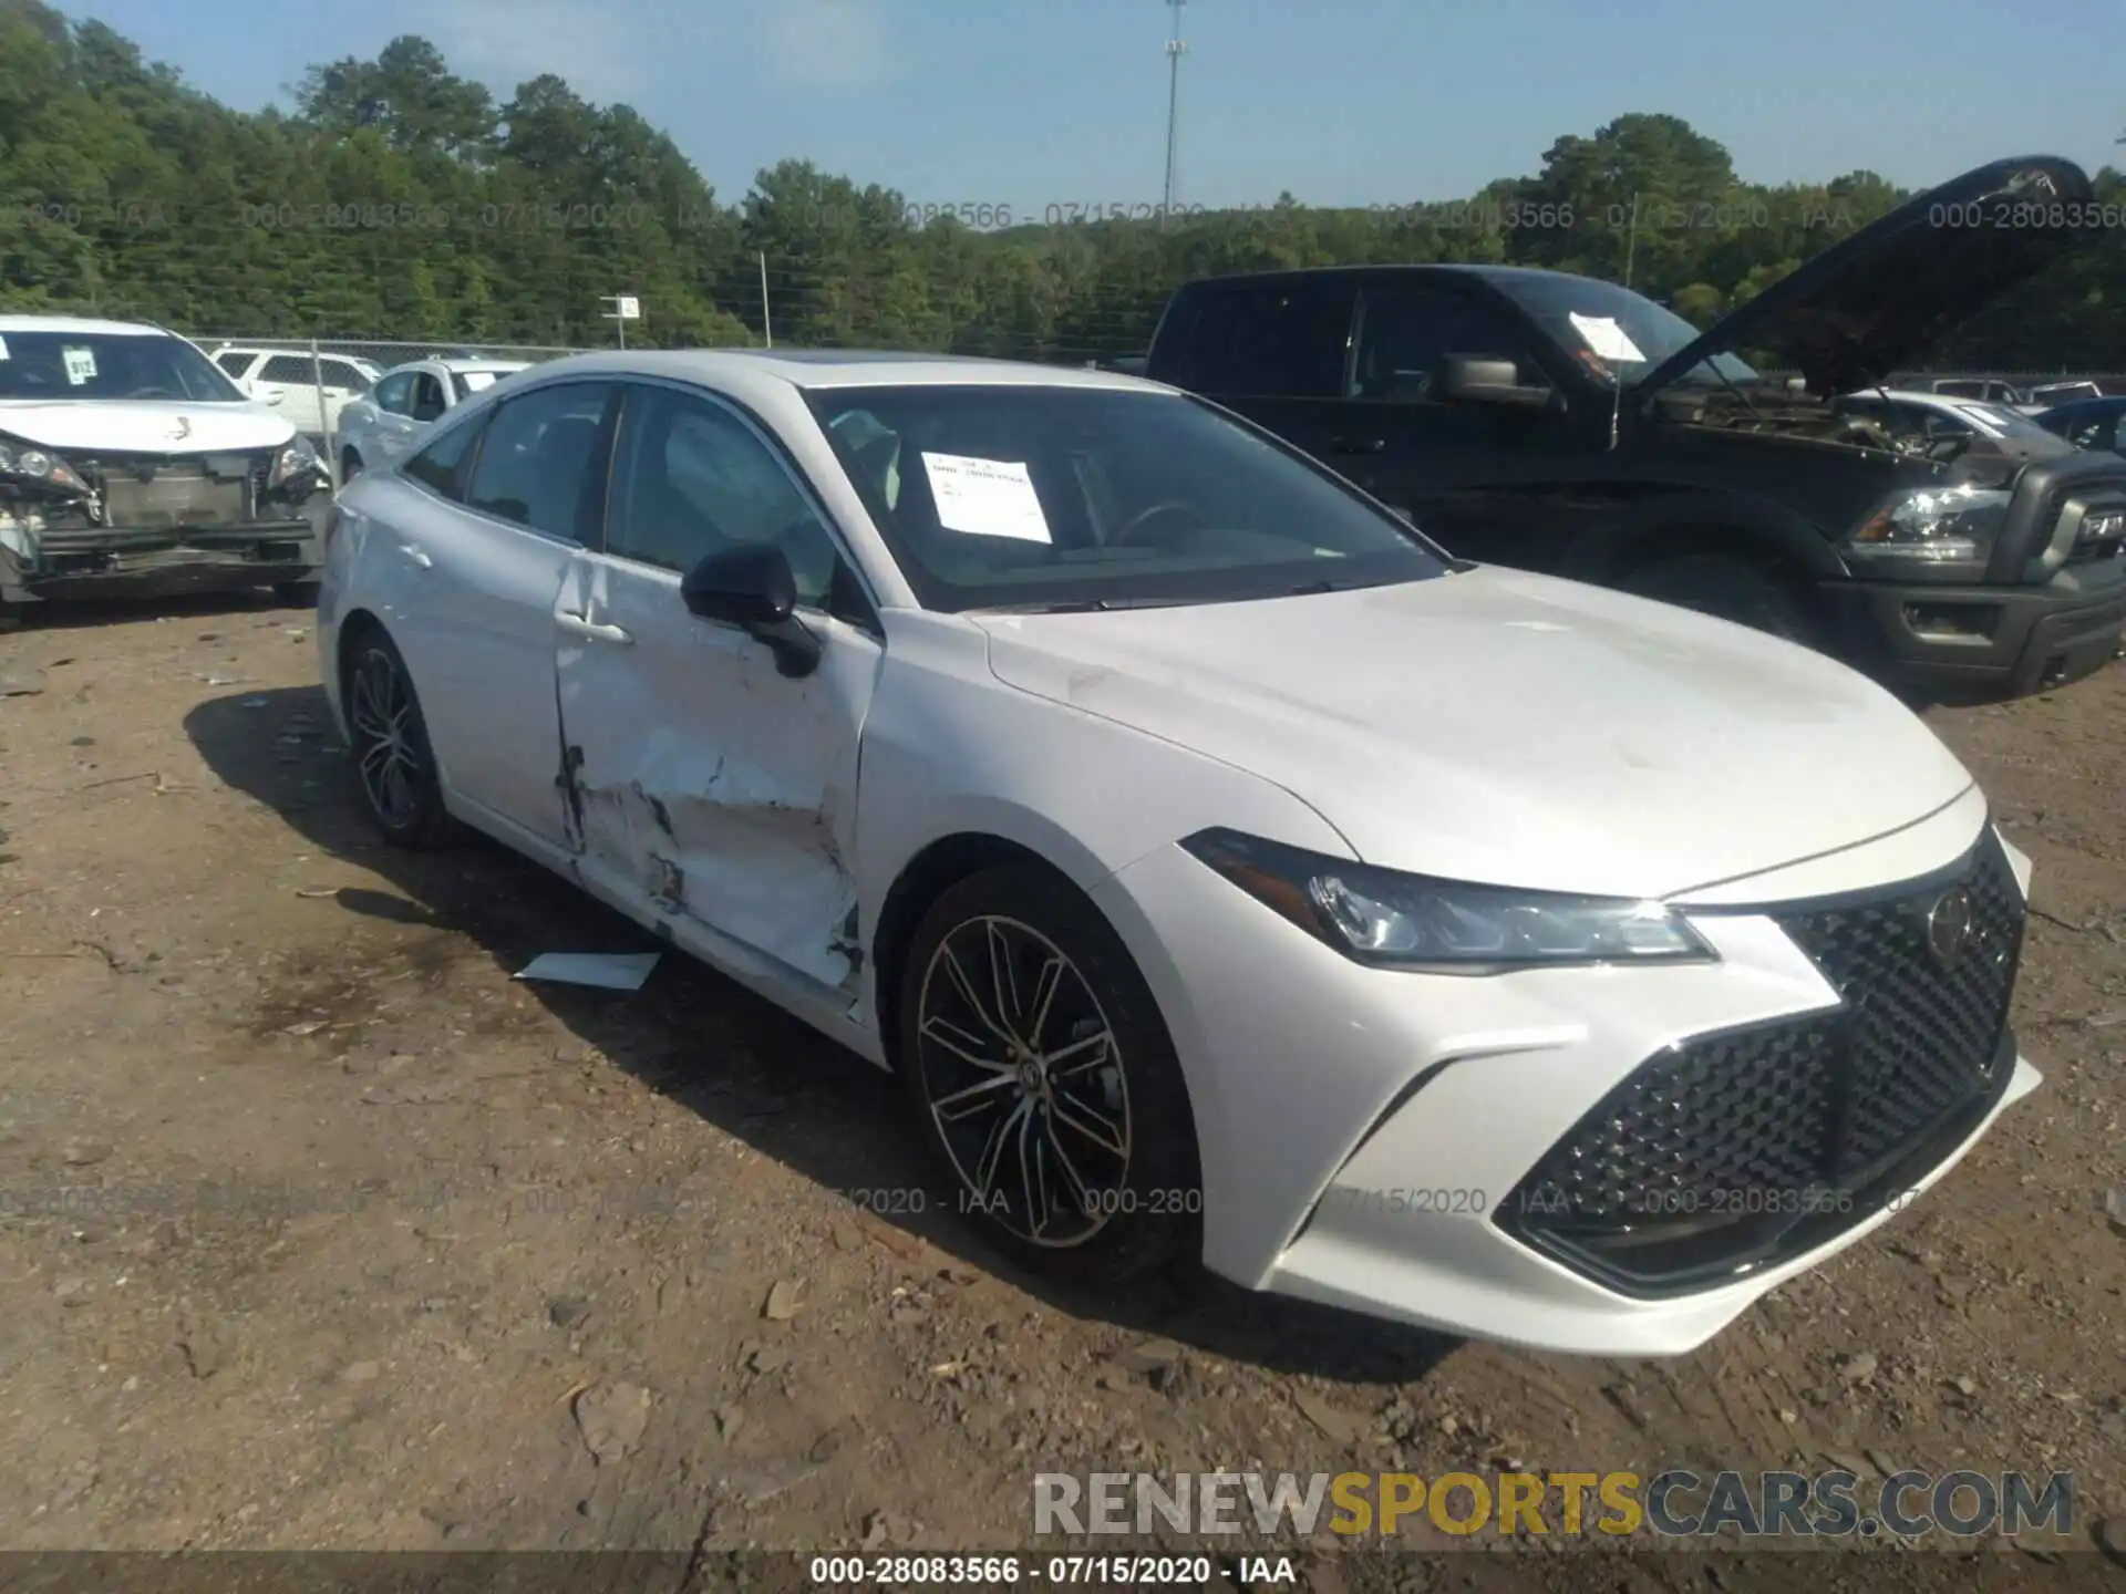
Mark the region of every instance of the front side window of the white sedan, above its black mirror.
<instances>
[{"instance_id":1,"label":"front side window of the white sedan, above its black mirror","mask_svg":"<svg viewBox=\"0 0 2126 1594\"><path fill-rule=\"evenodd\" d=\"M821 606L840 553L812 504L733 410L670 387L629 387L614 444L606 553L680 574L725 548L774 542L797 599Z\"/></svg>"}]
</instances>

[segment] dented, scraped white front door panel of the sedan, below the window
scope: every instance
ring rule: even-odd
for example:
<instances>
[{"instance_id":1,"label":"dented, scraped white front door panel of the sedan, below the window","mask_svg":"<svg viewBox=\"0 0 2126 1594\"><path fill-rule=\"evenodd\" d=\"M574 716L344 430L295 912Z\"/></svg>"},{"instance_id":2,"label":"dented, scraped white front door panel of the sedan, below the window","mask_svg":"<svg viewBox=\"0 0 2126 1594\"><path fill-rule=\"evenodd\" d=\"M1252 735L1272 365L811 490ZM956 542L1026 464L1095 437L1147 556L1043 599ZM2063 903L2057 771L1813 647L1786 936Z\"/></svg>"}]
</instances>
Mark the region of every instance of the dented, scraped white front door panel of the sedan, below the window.
<instances>
[{"instance_id":1,"label":"dented, scraped white front door panel of the sedan, below the window","mask_svg":"<svg viewBox=\"0 0 2126 1594\"><path fill-rule=\"evenodd\" d=\"M580 867L855 997L857 735L878 642L804 614L827 650L791 680L744 631L699 621L678 576L578 561L561 638L568 823Z\"/></svg>"}]
</instances>

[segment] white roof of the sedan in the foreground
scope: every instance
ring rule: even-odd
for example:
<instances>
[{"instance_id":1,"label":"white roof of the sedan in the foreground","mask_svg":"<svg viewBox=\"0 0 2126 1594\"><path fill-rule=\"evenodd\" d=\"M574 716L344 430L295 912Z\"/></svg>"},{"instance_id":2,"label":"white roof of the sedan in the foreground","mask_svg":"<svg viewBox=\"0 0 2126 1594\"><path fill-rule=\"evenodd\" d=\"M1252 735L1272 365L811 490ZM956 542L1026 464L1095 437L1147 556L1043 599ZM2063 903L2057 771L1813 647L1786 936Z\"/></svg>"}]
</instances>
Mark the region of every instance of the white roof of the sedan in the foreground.
<instances>
[{"instance_id":1,"label":"white roof of the sedan in the foreground","mask_svg":"<svg viewBox=\"0 0 2126 1594\"><path fill-rule=\"evenodd\" d=\"M1033 366L978 355L893 353L884 349L627 349L570 355L540 370L602 376L672 376L710 385L778 383L829 387L1093 387L1125 393L1171 393L1120 372L1076 366Z\"/></svg>"}]
</instances>

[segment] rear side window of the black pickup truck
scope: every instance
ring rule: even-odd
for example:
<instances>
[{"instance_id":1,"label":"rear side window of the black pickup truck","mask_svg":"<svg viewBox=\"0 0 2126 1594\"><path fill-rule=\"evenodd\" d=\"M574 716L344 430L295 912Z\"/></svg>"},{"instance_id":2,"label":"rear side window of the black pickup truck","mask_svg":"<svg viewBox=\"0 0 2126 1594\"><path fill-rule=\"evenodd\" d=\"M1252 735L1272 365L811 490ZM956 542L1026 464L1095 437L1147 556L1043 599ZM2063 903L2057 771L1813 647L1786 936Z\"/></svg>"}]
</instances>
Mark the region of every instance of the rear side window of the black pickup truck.
<instances>
[{"instance_id":1,"label":"rear side window of the black pickup truck","mask_svg":"<svg viewBox=\"0 0 2126 1594\"><path fill-rule=\"evenodd\" d=\"M1205 289L1174 329L1180 359L1161 380L1210 395L1335 397L1354 298L1333 276Z\"/></svg>"}]
</instances>

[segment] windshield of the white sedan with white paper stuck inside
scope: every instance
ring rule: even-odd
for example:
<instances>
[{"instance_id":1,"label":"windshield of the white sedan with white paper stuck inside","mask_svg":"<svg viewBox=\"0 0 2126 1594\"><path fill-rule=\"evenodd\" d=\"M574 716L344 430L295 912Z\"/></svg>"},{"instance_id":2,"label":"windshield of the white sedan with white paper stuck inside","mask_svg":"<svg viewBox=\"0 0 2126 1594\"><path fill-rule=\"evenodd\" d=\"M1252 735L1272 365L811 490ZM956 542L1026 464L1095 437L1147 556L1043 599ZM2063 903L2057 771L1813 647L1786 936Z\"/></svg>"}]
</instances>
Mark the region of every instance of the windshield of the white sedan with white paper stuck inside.
<instances>
[{"instance_id":1,"label":"windshield of the white sedan with white paper stuck inside","mask_svg":"<svg viewBox=\"0 0 2126 1594\"><path fill-rule=\"evenodd\" d=\"M1448 567L1303 455L1178 393L808 395L925 608L1212 604Z\"/></svg>"}]
</instances>

